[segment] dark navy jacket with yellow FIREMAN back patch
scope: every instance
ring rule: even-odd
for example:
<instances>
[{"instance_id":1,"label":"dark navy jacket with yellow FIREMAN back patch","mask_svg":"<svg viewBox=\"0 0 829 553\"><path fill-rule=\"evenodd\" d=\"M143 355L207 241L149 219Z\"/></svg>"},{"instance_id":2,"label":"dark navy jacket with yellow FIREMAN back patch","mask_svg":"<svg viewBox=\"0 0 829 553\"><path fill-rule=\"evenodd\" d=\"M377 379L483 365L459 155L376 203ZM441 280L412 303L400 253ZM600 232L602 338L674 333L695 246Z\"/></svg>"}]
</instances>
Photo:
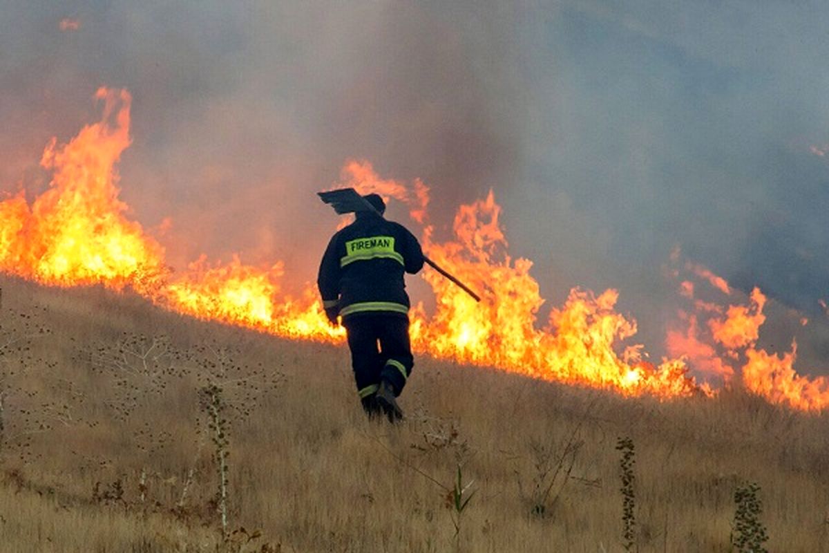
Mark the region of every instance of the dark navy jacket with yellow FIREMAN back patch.
<instances>
[{"instance_id":1,"label":"dark navy jacket with yellow FIREMAN back patch","mask_svg":"<svg viewBox=\"0 0 829 553\"><path fill-rule=\"evenodd\" d=\"M343 319L360 313L407 316L403 273L417 273L423 263L423 250L405 226L360 214L333 235L322 255L317 279L322 305L338 309Z\"/></svg>"}]
</instances>

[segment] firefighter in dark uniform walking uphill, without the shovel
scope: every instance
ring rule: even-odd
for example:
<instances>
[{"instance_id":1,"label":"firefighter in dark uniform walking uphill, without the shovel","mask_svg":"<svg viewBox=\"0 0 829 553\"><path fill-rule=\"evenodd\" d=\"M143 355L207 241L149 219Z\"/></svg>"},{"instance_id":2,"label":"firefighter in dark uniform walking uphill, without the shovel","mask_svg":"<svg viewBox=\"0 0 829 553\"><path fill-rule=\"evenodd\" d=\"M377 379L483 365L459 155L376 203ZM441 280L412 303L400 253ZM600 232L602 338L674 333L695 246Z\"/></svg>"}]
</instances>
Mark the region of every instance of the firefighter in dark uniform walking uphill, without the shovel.
<instances>
[{"instance_id":1,"label":"firefighter in dark uniform walking uphill, without the shovel","mask_svg":"<svg viewBox=\"0 0 829 553\"><path fill-rule=\"evenodd\" d=\"M346 327L363 409L395 422L403 417L395 398L414 365L403 274L422 269L424 255L409 230L383 218L381 196L363 197L376 212L358 211L356 221L333 235L317 284L328 320L337 325L339 316Z\"/></svg>"}]
</instances>

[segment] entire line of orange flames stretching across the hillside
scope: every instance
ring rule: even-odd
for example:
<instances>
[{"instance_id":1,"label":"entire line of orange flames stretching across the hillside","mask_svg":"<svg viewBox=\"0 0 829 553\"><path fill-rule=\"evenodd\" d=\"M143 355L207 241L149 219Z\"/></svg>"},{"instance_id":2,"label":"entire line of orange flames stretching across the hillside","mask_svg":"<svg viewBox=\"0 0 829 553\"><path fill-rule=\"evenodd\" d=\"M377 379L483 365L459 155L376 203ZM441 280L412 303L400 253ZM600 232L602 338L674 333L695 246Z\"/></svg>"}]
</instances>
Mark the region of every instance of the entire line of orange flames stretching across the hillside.
<instances>
[{"instance_id":1,"label":"entire line of orange flames stretching across the hillside","mask_svg":"<svg viewBox=\"0 0 829 553\"><path fill-rule=\"evenodd\" d=\"M31 206L23 192L0 202L0 270L49 285L128 288L197 318L282 337L342 342L344 331L327 323L313 284L306 284L297 297L284 293L281 261L254 267L238 257L220 264L202 256L184 271L167 269L162 245L128 220L127 206L118 200L115 166L130 143L131 98L125 90L108 89L95 96L103 103L101 120L65 145L53 139L46 146L41 165L52 173L51 188ZM703 302L696 298L700 286L725 298L737 292L709 269L686 262L679 293L690 307L667 335L671 358L656 364L647 361L642 344L629 342L637 323L616 311L615 289L572 289L564 305L552 308L545 321L538 320L544 299L530 274L532 262L507 253L501 207L493 192L460 206L452 239L440 241L434 239L429 187L423 182L396 182L378 176L371 163L350 161L337 185L343 186L404 203L412 221L421 226L429 257L482 296L476 303L424 269L435 308L427 313L419 303L411 313L411 337L421 353L661 398L715 393L709 379L728 383L739 374L746 387L770 401L802 410L829 404L826 379L810 380L793 370L794 345L783 356L756 347L766 303L759 289L745 304ZM332 227L335 221L332 215ZM691 370L703 376L701 383L690 376Z\"/></svg>"}]
</instances>

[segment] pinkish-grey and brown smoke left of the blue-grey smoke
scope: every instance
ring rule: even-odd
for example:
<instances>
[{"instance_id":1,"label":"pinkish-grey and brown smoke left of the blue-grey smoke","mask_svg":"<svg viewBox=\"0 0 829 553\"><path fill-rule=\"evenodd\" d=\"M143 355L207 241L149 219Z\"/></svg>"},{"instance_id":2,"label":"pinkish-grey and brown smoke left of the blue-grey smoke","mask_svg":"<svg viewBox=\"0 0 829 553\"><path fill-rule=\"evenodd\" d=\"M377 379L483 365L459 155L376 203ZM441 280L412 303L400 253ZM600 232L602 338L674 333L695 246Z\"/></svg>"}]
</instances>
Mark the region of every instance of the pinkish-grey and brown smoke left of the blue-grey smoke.
<instances>
[{"instance_id":1,"label":"pinkish-grey and brown smoke left of the blue-grey smoke","mask_svg":"<svg viewBox=\"0 0 829 553\"><path fill-rule=\"evenodd\" d=\"M172 216L172 259L242 250L291 264L298 243L317 257L327 240L335 221L320 221L313 192L349 158L433 182L447 219L516 175L525 105L513 100L515 14L462 3L12 6L2 95L16 105L2 109L18 114L18 129L38 107L60 110L75 124L51 133L68 132L96 86L125 87L135 101L123 196L148 226ZM67 19L78 29L61 32ZM48 135L40 126L26 131L33 164Z\"/></svg>"}]
</instances>

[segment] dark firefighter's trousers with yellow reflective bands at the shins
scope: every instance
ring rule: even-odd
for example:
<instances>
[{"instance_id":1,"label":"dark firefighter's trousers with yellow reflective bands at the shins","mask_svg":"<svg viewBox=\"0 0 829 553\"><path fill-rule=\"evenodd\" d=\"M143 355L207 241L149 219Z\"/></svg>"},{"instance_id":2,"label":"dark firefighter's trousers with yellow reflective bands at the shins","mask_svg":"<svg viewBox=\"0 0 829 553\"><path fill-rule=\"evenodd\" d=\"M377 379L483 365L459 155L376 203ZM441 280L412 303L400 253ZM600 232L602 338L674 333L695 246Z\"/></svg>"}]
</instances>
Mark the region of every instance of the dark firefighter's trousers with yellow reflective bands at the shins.
<instances>
[{"instance_id":1,"label":"dark firefighter's trousers with yellow reflective bands at the shins","mask_svg":"<svg viewBox=\"0 0 829 553\"><path fill-rule=\"evenodd\" d=\"M391 313L361 313L343 321L351 349L351 366L361 400L388 381L400 395L414 366L409 318Z\"/></svg>"}]
</instances>

